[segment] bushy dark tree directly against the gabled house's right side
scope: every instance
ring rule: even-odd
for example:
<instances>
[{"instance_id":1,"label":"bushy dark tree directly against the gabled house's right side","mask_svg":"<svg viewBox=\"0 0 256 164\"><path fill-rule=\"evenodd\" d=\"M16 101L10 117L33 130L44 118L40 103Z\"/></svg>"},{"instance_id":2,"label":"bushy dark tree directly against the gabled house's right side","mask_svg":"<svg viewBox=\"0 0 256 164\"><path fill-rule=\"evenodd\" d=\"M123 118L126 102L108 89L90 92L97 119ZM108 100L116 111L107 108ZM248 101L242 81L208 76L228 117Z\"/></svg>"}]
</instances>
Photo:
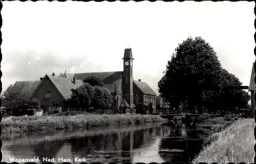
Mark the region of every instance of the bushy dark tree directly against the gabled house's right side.
<instances>
[{"instance_id":1,"label":"bushy dark tree directly against the gabled house's right side","mask_svg":"<svg viewBox=\"0 0 256 164\"><path fill-rule=\"evenodd\" d=\"M88 83L84 83L78 88L71 89L71 98L68 100L70 104L76 107L88 109L94 99L94 87Z\"/></svg>"}]
</instances>

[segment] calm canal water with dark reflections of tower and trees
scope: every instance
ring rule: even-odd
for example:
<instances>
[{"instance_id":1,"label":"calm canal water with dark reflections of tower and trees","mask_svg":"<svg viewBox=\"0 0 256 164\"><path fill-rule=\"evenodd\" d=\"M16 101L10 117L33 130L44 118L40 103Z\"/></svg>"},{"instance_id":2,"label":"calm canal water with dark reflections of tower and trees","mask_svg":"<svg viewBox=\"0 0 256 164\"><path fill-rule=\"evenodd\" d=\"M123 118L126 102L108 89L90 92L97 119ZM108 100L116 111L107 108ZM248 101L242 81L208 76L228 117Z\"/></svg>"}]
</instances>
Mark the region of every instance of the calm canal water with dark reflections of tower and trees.
<instances>
[{"instance_id":1,"label":"calm canal water with dark reflections of tower and trees","mask_svg":"<svg viewBox=\"0 0 256 164\"><path fill-rule=\"evenodd\" d=\"M147 125L59 131L49 136L3 140L3 161L9 157L86 158L86 162L188 162L202 149L203 134L185 125ZM79 162L80 163L80 162Z\"/></svg>"}]
</instances>

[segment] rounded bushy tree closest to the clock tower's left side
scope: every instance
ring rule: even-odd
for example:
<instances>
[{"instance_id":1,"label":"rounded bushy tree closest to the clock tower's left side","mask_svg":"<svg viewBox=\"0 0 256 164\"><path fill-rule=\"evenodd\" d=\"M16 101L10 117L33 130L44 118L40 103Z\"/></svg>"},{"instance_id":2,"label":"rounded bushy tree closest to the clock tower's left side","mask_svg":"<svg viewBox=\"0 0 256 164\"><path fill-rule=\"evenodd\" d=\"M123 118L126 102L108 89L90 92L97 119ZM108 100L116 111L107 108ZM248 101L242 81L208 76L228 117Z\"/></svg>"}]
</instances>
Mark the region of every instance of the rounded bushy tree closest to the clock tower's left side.
<instances>
[{"instance_id":1,"label":"rounded bushy tree closest to the clock tower's left side","mask_svg":"<svg viewBox=\"0 0 256 164\"><path fill-rule=\"evenodd\" d=\"M112 106L112 95L109 89L94 86L94 98L92 100L92 106L96 109L107 109Z\"/></svg>"}]
</instances>

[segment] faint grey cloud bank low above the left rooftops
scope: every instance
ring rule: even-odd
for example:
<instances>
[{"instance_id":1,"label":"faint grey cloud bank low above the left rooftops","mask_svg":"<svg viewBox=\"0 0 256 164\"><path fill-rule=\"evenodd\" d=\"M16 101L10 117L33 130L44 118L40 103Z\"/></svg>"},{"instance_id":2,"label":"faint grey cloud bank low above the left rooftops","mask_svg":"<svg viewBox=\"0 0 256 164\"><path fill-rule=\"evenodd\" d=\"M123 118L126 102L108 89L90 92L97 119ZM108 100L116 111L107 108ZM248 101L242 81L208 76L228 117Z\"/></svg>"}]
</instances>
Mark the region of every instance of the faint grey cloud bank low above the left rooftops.
<instances>
[{"instance_id":1,"label":"faint grey cloud bank low above the left rooftops","mask_svg":"<svg viewBox=\"0 0 256 164\"><path fill-rule=\"evenodd\" d=\"M82 68L75 67L81 63L83 63ZM3 90L15 81L39 80L46 74L55 72L58 75L66 70L84 72L83 68L91 67L99 68L100 66L87 62L86 56L62 58L61 55L50 51L5 52L1 63Z\"/></svg>"}]
</instances>

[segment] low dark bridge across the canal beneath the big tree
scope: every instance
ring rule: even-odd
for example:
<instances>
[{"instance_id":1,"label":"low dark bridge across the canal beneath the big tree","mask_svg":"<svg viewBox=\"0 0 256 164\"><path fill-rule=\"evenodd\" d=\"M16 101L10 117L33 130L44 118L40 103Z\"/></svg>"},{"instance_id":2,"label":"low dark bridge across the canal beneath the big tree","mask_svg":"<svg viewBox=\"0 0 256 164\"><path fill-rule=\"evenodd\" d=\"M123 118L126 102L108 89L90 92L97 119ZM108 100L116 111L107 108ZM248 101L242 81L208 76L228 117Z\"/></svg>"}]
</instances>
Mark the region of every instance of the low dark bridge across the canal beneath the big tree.
<instances>
[{"instance_id":1,"label":"low dark bridge across the canal beneath the big tree","mask_svg":"<svg viewBox=\"0 0 256 164\"><path fill-rule=\"evenodd\" d=\"M169 111L166 114L158 114L163 119L168 119L169 121L174 121L177 123L177 121L180 119L182 122L186 123L187 127L195 126L197 122L197 117L200 115L199 113L193 112L193 111Z\"/></svg>"}]
</instances>

